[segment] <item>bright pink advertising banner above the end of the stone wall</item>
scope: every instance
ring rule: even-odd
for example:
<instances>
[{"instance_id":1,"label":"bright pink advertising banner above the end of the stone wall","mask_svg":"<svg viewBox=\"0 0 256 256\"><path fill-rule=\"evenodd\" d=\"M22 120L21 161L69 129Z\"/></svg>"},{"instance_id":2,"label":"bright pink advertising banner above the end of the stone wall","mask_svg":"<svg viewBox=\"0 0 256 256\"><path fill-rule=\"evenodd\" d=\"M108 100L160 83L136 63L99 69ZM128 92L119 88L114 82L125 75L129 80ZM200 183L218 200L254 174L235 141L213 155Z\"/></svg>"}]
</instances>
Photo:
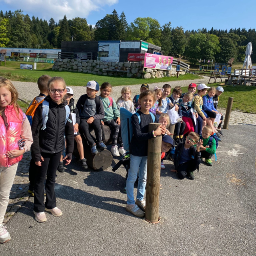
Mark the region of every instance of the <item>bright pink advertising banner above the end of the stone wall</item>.
<instances>
[{"instance_id":1,"label":"bright pink advertising banner above the end of the stone wall","mask_svg":"<svg viewBox=\"0 0 256 256\"><path fill-rule=\"evenodd\" d=\"M174 57L145 53L144 68L172 70Z\"/></svg>"}]
</instances>

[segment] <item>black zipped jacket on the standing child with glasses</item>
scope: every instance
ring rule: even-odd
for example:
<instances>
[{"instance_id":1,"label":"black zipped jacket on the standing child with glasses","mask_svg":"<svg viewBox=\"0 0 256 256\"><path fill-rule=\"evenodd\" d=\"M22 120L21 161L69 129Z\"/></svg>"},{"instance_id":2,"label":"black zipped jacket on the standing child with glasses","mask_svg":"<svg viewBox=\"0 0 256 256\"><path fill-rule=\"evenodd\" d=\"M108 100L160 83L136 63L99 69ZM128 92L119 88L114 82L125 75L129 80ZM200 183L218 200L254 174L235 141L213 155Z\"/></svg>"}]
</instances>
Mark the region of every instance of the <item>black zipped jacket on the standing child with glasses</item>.
<instances>
[{"instance_id":1,"label":"black zipped jacket on the standing child with glasses","mask_svg":"<svg viewBox=\"0 0 256 256\"><path fill-rule=\"evenodd\" d=\"M67 155L72 157L74 151L74 126L73 122L66 120L65 103L57 105L50 96L45 98L49 102L49 114L46 129L42 127L42 104L38 105L32 123L33 144L31 146L32 157L35 162L41 161L41 152L54 154L63 150L64 132L67 140ZM72 120L71 114L69 116Z\"/></svg>"}]
</instances>

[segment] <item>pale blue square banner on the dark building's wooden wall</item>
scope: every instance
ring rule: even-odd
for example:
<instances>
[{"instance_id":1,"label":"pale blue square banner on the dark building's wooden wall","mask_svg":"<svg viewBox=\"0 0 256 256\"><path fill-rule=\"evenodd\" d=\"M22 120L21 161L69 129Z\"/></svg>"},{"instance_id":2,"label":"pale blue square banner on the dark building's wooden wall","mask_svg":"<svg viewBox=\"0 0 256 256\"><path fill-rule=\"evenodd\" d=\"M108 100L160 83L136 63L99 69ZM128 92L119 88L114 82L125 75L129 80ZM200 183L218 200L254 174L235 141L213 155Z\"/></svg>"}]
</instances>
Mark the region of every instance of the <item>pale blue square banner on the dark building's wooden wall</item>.
<instances>
[{"instance_id":1,"label":"pale blue square banner on the dark building's wooden wall","mask_svg":"<svg viewBox=\"0 0 256 256\"><path fill-rule=\"evenodd\" d=\"M99 41L98 60L103 62L119 61L120 41Z\"/></svg>"}]
</instances>

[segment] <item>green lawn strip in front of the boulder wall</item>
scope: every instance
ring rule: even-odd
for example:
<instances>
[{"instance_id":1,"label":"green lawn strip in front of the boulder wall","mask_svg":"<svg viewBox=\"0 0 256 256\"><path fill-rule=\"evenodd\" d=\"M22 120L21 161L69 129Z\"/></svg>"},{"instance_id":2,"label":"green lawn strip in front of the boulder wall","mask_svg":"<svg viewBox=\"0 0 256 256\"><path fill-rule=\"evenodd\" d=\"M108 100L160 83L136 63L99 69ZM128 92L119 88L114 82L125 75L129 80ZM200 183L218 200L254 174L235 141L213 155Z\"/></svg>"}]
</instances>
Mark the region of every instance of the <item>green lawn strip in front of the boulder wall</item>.
<instances>
[{"instance_id":1,"label":"green lawn strip in front of the boulder wall","mask_svg":"<svg viewBox=\"0 0 256 256\"><path fill-rule=\"evenodd\" d=\"M0 76L6 77L11 80L26 81L26 82L36 82L38 77L41 75L49 76L61 76L65 79L67 85L69 86L84 86L90 80L96 80L99 84L108 81L112 86L129 86L132 84L140 83L153 83L153 82L168 82L177 80L194 80L200 79L201 76L186 74L176 77L163 77L163 78L127 78L127 77L113 77L113 76L100 76L93 74L84 73L73 73L73 72L58 72L52 71L53 64L48 63L37 63L37 70L22 70L19 69L19 64L23 62L12 62L6 61L6 66L0 67ZM34 64L33 62L24 62L28 64Z\"/></svg>"}]
</instances>

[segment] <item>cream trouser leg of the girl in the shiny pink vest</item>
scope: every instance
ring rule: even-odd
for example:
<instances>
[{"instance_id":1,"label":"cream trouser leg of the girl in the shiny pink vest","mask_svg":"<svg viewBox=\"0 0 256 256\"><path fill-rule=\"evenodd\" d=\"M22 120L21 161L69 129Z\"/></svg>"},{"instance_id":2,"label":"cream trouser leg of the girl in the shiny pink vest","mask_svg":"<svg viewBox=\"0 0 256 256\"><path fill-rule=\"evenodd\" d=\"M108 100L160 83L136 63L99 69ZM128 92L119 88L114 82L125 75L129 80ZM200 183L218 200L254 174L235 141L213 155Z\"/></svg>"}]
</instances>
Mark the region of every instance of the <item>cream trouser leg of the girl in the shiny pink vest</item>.
<instances>
[{"instance_id":1,"label":"cream trouser leg of the girl in the shiny pink vest","mask_svg":"<svg viewBox=\"0 0 256 256\"><path fill-rule=\"evenodd\" d=\"M17 172L18 163L0 167L0 225L3 224L9 202L10 191Z\"/></svg>"}]
</instances>

